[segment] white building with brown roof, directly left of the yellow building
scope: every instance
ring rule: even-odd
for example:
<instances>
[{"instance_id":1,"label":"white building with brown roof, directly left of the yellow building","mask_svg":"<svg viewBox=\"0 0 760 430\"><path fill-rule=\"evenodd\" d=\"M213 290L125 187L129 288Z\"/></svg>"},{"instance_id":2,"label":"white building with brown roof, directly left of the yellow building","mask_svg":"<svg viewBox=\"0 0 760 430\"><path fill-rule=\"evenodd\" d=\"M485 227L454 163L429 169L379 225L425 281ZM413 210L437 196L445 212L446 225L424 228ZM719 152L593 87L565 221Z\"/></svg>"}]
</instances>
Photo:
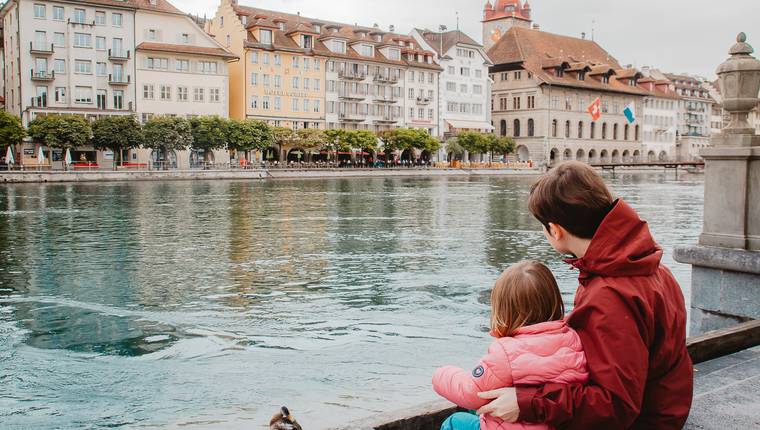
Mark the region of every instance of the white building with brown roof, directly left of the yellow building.
<instances>
[{"instance_id":1,"label":"white building with brown roof, directly left of the yellow building","mask_svg":"<svg viewBox=\"0 0 760 430\"><path fill-rule=\"evenodd\" d=\"M135 30L138 118L143 122L154 115L227 118L227 62L238 57L168 1L142 1ZM157 154L141 149L129 158L140 164L165 161L180 169L230 161L226 150Z\"/></svg>"}]
</instances>

